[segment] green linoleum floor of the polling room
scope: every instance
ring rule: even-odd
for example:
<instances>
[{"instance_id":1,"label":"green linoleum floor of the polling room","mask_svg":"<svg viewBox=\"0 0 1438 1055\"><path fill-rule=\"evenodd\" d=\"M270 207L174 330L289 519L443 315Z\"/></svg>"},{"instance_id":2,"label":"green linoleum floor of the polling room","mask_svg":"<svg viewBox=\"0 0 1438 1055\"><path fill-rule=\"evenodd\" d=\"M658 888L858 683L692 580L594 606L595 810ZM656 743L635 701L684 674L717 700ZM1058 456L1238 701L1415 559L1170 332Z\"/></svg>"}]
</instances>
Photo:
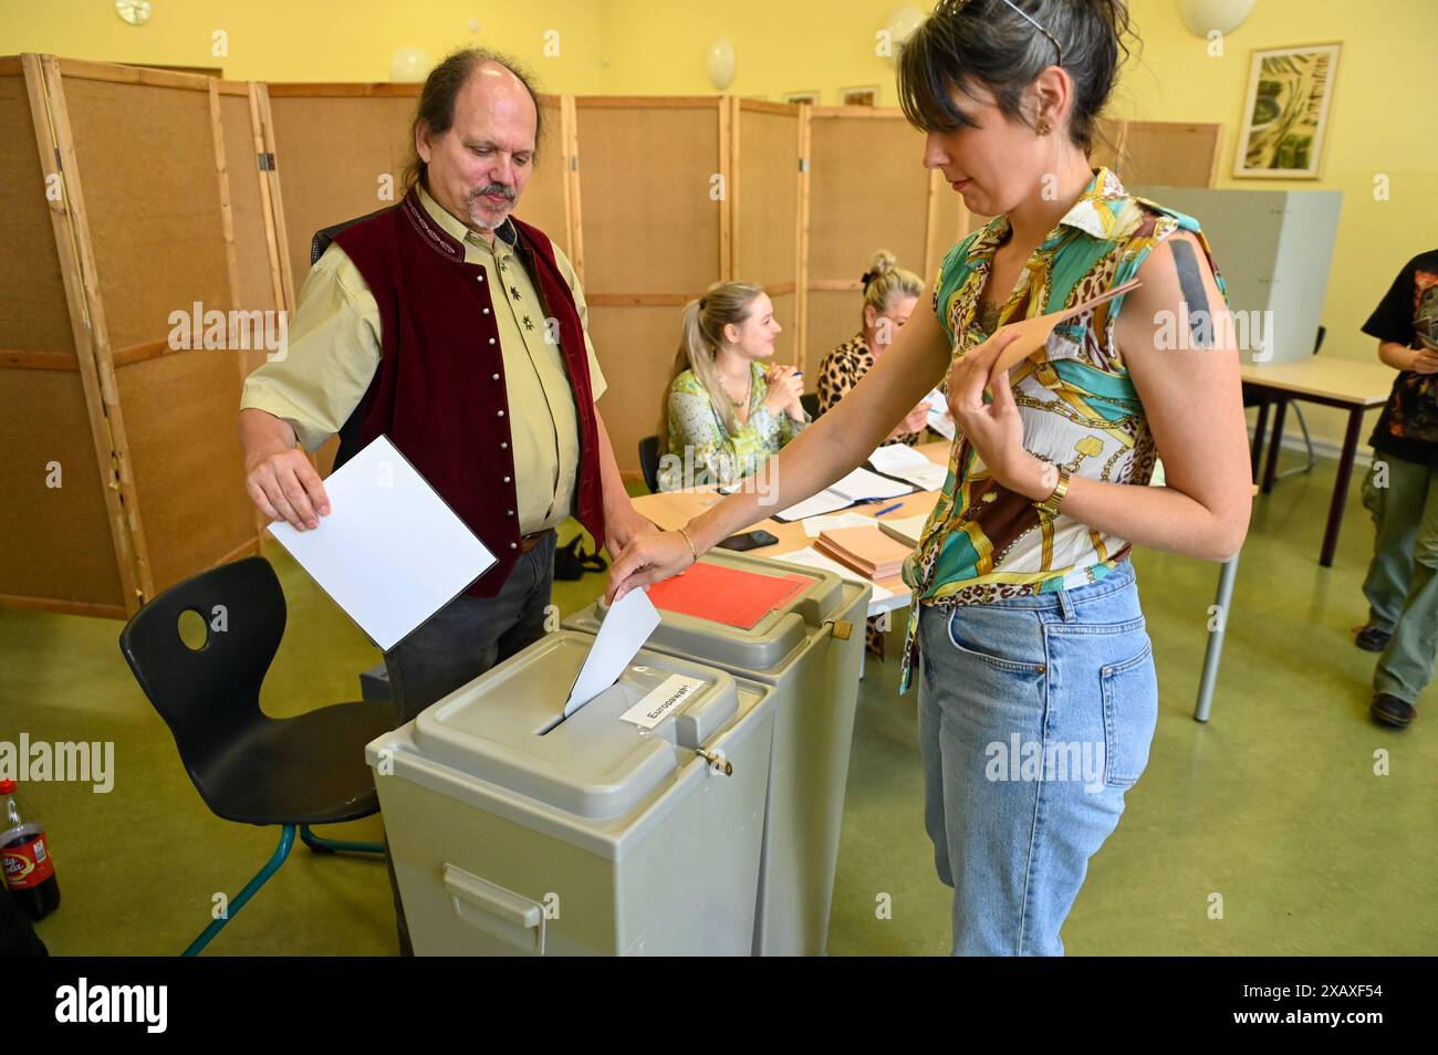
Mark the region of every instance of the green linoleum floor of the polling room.
<instances>
[{"instance_id":1,"label":"green linoleum floor of the polling room","mask_svg":"<svg viewBox=\"0 0 1438 1055\"><path fill-rule=\"evenodd\" d=\"M1334 464L1260 497L1244 549L1214 716L1192 720L1217 565L1136 556L1160 714L1148 772L1094 857L1064 927L1070 954L1438 953L1438 690L1389 732L1368 719L1373 655L1352 644L1372 528L1350 496L1334 566L1317 563ZM569 538L561 530L561 538ZM378 661L282 553L289 628L262 704L292 714L358 696ZM557 584L568 614L603 576ZM896 614L902 615L902 614ZM275 845L213 818L129 676L118 622L0 611L0 740L115 742L115 786L24 789L50 832L63 894L37 930L59 954L178 953ZM902 619L896 619L902 627ZM1435 642L1438 647L1438 642ZM890 653L894 650L890 648ZM923 832L913 693L897 663L860 688L830 927L833 954L948 950L948 890ZM1375 752L1391 775L1376 776ZM325 835L377 839L380 821ZM892 918L877 918L889 895ZM1215 895L1224 918L1209 918ZM213 954L385 954L394 920L383 862L289 862L210 946Z\"/></svg>"}]
</instances>

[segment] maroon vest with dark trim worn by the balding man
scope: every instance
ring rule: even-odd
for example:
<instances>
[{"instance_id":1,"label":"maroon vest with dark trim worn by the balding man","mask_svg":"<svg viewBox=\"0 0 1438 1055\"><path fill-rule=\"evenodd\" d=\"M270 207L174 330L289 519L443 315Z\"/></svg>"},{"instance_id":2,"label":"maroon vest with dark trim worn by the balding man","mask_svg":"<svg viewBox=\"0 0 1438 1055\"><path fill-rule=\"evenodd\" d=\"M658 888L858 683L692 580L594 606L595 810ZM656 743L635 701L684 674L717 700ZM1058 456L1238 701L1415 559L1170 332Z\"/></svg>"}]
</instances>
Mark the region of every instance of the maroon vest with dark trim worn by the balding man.
<instances>
[{"instance_id":1,"label":"maroon vest with dark trim worn by the balding man","mask_svg":"<svg viewBox=\"0 0 1438 1055\"><path fill-rule=\"evenodd\" d=\"M571 512L604 545L598 418L578 308L548 236L513 217L510 223L545 318L558 322L574 394L580 479ZM498 558L466 591L493 596L519 558L521 533L505 361L485 269L464 263L464 246L430 218L413 190L335 241L380 305L383 348L374 379L341 431L335 467L388 436Z\"/></svg>"}]
</instances>

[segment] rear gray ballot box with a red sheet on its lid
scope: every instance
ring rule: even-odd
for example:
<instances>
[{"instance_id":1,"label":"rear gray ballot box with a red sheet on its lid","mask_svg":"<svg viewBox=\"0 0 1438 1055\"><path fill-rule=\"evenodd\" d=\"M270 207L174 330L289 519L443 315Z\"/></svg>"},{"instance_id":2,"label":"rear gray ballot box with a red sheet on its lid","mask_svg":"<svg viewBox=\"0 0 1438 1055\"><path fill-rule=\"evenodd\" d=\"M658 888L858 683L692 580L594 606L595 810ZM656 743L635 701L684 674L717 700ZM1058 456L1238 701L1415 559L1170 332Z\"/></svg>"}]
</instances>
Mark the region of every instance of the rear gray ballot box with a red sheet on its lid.
<instances>
[{"instance_id":1,"label":"rear gray ballot box with a red sheet on its lid","mask_svg":"<svg viewBox=\"0 0 1438 1055\"><path fill-rule=\"evenodd\" d=\"M774 687L774 756L754 953L823 956L873 589L833 572L722 549L705 553L700 562L811 579L751 630L660 611L661 622L647 648ZM604 611L600 598L564 625L598 632Z\"/></svg>"}]
</instances>

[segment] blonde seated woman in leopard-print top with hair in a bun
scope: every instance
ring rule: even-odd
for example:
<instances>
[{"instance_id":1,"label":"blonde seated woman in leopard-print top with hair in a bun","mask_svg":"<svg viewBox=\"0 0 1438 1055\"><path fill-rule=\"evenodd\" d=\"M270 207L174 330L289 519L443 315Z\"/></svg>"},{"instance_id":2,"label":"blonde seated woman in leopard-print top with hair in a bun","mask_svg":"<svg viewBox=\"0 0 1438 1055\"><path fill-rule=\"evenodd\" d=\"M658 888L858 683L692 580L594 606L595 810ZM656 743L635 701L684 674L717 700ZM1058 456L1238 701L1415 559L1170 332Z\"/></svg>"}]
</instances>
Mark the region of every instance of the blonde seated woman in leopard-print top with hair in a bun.
<instances>
[{"instance_id":1,"label":"blonde seated woman in leopard-print top with hair in a bun","mask_svg":"<svg viewBox=\"0 0 1438 1055\"><path fill-rule=\"evenodd\" d=\"M830 407L853 391L860 378L879 361L903 323L909 321L915 305L923 295L923 279L910 270L899 267L899 259L887 249L874 253L873 263L864 272L863 328L848 341L824 356L818 368L818 410ZM905 443L910 447L923 440L929 423L929 408L919 404L899 427L880 444Z\"/></svg>"}]
</instances>

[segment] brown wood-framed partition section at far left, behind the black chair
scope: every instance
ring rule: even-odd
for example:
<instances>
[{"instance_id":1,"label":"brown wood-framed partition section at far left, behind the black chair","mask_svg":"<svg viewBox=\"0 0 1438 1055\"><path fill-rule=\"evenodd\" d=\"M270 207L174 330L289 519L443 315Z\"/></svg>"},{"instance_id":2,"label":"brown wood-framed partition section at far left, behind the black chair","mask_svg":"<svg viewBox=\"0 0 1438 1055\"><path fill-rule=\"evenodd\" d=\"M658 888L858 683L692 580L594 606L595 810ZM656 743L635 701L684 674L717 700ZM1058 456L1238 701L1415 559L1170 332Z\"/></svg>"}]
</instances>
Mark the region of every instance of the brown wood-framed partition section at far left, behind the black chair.
<instances>
[{"instance_id":1,"label":"brown wood-framed partition section at far left, behind the black chair","mask_svg":"<svg viewBox=\"0 0 1438 1055\"><path fill-rule=\"evenodd\" d=\"M233 423L265 322L237 315L275 286L257 181L227 175L250 116L203 76L0 59L0 604L124 617L259 548Z\"/></svg>"}]
</instances>

